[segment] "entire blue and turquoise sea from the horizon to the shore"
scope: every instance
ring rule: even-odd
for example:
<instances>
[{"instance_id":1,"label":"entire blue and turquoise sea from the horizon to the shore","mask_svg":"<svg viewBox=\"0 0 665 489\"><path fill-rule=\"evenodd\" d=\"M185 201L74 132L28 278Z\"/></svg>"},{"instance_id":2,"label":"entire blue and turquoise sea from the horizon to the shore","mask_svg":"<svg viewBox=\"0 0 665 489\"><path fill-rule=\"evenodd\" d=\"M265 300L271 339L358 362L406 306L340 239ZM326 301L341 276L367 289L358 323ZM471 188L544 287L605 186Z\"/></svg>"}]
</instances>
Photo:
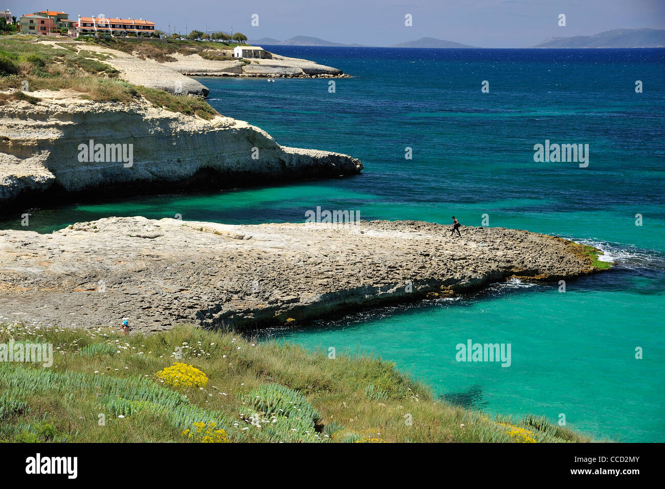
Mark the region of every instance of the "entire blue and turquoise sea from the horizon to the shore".
<instances>
[{"instance_id":1,"label":"entire blue and turquoise sea from the horizon to the shore","mask_svg":"<svg viewBox=\"0 0 665 489\"><path fill-rule=\"evenodd\" d=\"M665 441L664 49L266 48L354 77L332 93L327 79L200 79L211 105L285 146L351 154L362 175L35 210L31 229L137 214L303 222L321 206L472 226L487 214L489 226L594 244L613 269L565 293L513 281L264 337L371 352L487 412L565 414L600 439ZM589 166L534 162L545 140L589 144ZM0 225L20 228L18 218ZM456 345L468 339L511 343L511 366L458 363Z\"/></svg>"}]
</instances>

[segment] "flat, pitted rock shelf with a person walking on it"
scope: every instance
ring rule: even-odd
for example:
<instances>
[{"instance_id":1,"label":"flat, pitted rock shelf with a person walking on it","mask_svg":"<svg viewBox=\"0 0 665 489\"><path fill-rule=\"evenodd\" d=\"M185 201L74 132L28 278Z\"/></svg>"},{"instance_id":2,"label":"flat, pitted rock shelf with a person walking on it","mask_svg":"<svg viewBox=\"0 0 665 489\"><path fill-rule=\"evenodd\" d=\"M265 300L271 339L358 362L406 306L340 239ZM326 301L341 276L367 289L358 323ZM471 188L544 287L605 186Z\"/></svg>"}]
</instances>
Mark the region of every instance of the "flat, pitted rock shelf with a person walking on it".
<instances>
[{"instance_id":1,"label":"flat, pitted rock shelf with a person walking on it","mask_svg":"<svg viewBox=\"0 0 665 489\"><path fill-rule=\"evenodd\" d=\"M0 321L253 328L511 276L593 271L559 238L505 228L374 221L229 226L106 218L53 234L0 231Z\"/></svg>"}]
</instances>

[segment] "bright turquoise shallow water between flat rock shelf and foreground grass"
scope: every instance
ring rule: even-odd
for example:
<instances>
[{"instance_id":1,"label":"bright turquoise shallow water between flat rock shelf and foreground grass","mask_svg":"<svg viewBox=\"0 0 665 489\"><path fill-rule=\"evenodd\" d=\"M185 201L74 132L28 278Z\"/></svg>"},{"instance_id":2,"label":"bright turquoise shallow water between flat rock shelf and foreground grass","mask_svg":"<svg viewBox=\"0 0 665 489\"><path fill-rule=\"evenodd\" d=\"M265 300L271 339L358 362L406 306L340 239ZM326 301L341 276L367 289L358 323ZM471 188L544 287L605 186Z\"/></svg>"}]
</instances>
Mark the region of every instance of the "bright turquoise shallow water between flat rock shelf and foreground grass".
<instances>
[{"instance_id":1,"label":"bright turquoise shallow water between flat rock shelf and foreground grass","mask_svg":"<svg viewBox=\"0 0 665 489\"><path fill-rule=\"evenodd\" d=\"M654 334L662 296L610 291L600 281L569 283L566 293L556 285L501 285L471 299L386 308L269 336L325 352L372 352L469 407L517 418L563 413L568 426L598 438L662 440L665 344ZM510 367L456 361L456 345L469 339L510 343ZM644 359L634 358L635 347Z\"/></svg>"}]
</instances>

